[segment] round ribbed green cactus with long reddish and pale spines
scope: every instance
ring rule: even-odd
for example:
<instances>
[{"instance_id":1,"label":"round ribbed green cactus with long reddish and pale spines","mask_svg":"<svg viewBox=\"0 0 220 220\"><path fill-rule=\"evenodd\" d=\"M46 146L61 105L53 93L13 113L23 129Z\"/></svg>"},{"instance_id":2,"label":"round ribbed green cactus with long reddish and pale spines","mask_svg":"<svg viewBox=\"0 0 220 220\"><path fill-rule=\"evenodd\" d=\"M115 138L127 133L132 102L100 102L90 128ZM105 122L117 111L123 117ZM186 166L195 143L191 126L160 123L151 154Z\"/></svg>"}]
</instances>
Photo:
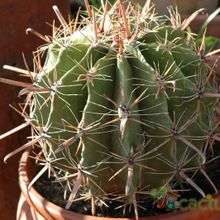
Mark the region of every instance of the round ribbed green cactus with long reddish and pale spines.
<instances>
[{"instance_id":1,"label":"round ribbed green cactus with long reddish and pale spines","mask_svg":"<svg viewBox=\"0 0 220 220\"><path fill-rule=\"evenodd\" d=\"M53 26L52 36L27 29L46 42L34 53L34 71L5 66L31 79L0 81L23 87L25 123L15 130L32 130L31 141L5 160L38 146L45 166L37 178L49 170L67 181L66 208L83 192L93 214L96 201L111 195L132 204L138 218L137 195L159 190L159 199L173 182L185 181L205 197L191 175L197 171L217 192L205 165L220 140L214 111L220 94L206 60L219 50L204 54L205 34L198 46L187 29L201 10L181 22L172 8L157 16L149 0L126 10L122 0L100 10L85 2L88 18L78 21L78 14L70 24L54 7L61 28Z\"/></svg>"}]
</instances>

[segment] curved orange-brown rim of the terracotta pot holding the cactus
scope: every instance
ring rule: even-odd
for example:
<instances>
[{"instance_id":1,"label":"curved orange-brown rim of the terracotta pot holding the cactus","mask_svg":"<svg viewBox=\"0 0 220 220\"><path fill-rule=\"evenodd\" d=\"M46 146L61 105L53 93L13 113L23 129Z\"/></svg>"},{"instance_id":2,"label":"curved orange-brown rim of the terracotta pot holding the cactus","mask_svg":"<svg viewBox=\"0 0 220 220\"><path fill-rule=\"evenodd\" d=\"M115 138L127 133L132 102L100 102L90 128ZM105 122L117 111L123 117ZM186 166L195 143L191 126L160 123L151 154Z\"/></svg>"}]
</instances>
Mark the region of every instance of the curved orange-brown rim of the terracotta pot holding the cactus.
<instances>
[{"instance_id":1,"label":"curved orange-brown rim of the terracotta pot holding the cactus","mask_svg":"<svg viewBox=\"0 0 220 220\"><path fill-rule=\"evenodd\" d=\"M98 217L91 215L83 215L70 210L63 209L52 202L49 202L42 197L32 186L28 189L30 183L31 172L31 160L29 158L30 151L25 151L19 162L19 186L21 192L28 204L46 219L62 219L62 220L131 220L133 218L111 218L111 217ZM220 204L220 194L217 195L218 203ZM220 219L220 209L215 210L192 210L192 211L178 211L158 216L141 217L140 220L185 220L185 219L199 219L199 220L211 220Z\"/></svg>"}]
</instances>

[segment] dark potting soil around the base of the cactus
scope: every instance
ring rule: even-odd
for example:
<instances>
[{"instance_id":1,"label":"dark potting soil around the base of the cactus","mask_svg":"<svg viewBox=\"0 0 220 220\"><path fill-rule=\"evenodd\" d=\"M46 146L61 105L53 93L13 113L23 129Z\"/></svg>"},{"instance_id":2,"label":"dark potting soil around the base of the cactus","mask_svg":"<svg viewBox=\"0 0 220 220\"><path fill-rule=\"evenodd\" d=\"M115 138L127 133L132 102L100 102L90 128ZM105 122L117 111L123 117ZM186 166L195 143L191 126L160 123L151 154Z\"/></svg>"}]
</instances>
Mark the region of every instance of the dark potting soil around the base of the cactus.
<instances>
[{"instance_id":1,"label":"dark potting soil around the base of the cactus","mask_svg":"<svg viewBox=\"0 0 220 220\"><path fill-rule=\"evenodd\" d=\"M217 157L220 155L220 143L215 144L214 146L214 157ZM208 156L207 161L211 159L213 156ZM208 163L206 165L206 173L210 177L210 179L214 182L217 189L220 188L220 157L213 160L211 163ZM187 174L189 175L189 174ZM200 173L197 172L194 177L193 181L202 188L204 193L206 195L213 194L213 188L210 185L210 183L207 181L207 179ZM181 185L176 184L176 189L184 188L187 189L186 191L180 191L178 201L180 202L181 199L184 199L185 208L187 205L191 206L191 208L198 208L197 201L200 201L202 199L201 195L189 184L183 183ZM56 182L55 179L47 178L47 175L43 175L36 183L35 183L36 190L48 201L53 202L57 204L58 206L65 208L66 200L64 200L64 187L60 185L60 183ZM152 215L159 215L167 212L171 212L170 209L165 207L158 207L158 203L155 203L155 200L150 198L146 195L138 195L138 205L140 205L143 208L138 208L138 214L139 217L145 217L145 216L152 216ZM68 198L68 195L67 197ZM191 204L190 204L191 201ZM192 202L193 201L193 202ZM120 201L115 201L113 198L109 199L108 201L105 201L108 207L96 204L96 214L97 216L108 216L108 217L133 217L134 216L134 209L133 206L127 206L125 210L125 215L123 214L123 208L118 208L120 206L123 206L124 203ZM220 204L219 204L220 205ZM87 201L77 201L74 202L70 208L70 210L74 212L79 212L82 214L91 215L91 202L88 199ZM180 208L173 208L172 211L178 211L181 210Z\"/></svg>"}]
</instances>

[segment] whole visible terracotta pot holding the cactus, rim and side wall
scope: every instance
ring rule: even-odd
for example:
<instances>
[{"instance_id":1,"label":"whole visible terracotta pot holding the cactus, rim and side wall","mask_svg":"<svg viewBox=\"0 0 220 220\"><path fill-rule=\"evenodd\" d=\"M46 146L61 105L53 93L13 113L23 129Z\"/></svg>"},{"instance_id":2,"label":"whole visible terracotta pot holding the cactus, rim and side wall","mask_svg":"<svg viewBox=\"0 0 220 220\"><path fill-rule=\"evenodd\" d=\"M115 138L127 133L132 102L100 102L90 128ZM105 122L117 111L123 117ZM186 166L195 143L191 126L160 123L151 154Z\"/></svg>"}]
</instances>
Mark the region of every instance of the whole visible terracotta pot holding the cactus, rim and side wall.
<instances>
[{"instance_id":1,"label":"whole visible terracotta pot holding the cactus, rim and side wall","mask_svg":"<svg viewBox=\"0 0 220 220\"><path fill-rule=\"evenodd\" d=\"M28 159L29 151L23 153L19 164L19 184L21 197L18 203L17 220L129 220L128 218L107 218L81 215L65 210L43 198L33 187L28 190L28 184L33 177L33 160ZM216 198L220 205L220 195ZM195 210L189 212L174 212L159 216L140 218L140 220L219 220L219 211Z\"/></svg>"}]
</instances>

